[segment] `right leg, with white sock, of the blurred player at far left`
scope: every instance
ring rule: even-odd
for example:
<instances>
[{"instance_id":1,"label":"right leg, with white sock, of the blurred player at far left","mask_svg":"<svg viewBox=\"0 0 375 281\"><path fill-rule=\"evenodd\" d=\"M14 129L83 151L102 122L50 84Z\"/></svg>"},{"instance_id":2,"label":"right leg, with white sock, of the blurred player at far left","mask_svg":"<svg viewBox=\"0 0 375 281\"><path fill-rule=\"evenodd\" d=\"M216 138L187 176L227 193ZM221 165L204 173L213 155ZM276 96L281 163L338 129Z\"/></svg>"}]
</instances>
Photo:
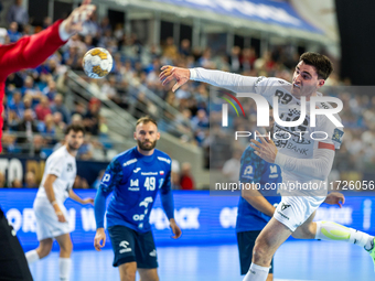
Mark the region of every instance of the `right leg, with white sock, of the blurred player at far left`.
<instances>
[{"instance_id":1,"label":"right leg, with white sock, of the blurred player at far left","mask_svg":"<svg viewBox=\"0 0 375 281\"><path fill-rule=\"evenodd\" d=\"M71 255L73 250L71 235L64 234L55 237L55 239L60 246L60 259L58 259L60 281L68 281L72 267Z\"/></svg>"}]
</instances>

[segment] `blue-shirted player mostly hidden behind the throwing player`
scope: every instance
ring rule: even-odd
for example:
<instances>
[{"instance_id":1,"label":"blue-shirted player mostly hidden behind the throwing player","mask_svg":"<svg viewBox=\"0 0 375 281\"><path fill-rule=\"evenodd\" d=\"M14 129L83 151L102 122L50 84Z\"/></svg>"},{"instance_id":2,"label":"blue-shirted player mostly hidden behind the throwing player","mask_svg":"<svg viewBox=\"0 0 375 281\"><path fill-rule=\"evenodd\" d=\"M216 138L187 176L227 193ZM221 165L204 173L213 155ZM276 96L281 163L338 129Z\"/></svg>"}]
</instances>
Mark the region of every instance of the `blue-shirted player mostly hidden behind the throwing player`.
<instances>
[{"instance_id":1,"label":"blue-shirted player mostly hidden behind the throwing player","mask_svg":"<svg viewBox=\"0 0 375 281\"><path fill-rule=\"evenodd\" d=\"M271 134L274 134L274 114L270 109L267 129ZM250 268L255 240L281 201L277 191L278 184L282 183L280 167L262 160L254 151L251 147L246 148L240 159L239 170L239 182L244 184L244 187L238 202L236 233L242 275L245 275ZM324 203L338 204L341 207L342 202L344 202L344 196L341 193L331 193ZM274 258L266 281L272 280Z\"/></svg>"}]
</instances>

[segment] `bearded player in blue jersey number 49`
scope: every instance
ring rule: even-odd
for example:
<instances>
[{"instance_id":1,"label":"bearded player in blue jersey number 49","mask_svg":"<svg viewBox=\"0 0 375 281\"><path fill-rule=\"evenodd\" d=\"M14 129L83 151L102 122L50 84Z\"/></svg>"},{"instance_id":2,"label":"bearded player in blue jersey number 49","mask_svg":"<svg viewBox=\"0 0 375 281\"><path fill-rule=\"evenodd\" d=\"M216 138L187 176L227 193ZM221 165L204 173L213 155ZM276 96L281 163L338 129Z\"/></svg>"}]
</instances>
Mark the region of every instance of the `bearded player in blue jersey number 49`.
<instances>
[{"instance_id":1,"label":"bearded player in blue jersey number 49","mask_svg":"<svg viewBox=\"0 0 375 281\"><path fill-rule=\"evenodd\" d=\"M106 198L114 192L107 209L107 229L115 252L114 267L121 281L135 281L138 270L142 281L158 281L157 250L149 217L157 193L176 239L181 229L173 217L171 158L154 149L160 139L157 122L150 117L137 121L137 147L127 150L108 165L95 198L95 249L105 246L104 215Z\"/></svg>"}]
</instances>

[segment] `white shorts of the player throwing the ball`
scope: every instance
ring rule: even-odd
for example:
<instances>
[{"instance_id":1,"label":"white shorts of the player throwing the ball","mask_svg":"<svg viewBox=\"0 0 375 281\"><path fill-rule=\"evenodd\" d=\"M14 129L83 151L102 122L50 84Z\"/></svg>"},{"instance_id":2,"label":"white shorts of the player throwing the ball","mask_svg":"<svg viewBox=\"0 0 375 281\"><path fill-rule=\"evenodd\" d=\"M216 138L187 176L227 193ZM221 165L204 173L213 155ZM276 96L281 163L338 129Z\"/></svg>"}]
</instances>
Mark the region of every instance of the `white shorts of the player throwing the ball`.
<instances>
[{"instance_id":1,"label":"white shorts of the player throwing the ball","mask_svg":"<svg viewBox=\"0 0 375 281\"><path fill-rule=\"evenodd\" d=\"M274 217L292 233L325 201L325 196L282 196Z\"/></svg>"}]
</instances>

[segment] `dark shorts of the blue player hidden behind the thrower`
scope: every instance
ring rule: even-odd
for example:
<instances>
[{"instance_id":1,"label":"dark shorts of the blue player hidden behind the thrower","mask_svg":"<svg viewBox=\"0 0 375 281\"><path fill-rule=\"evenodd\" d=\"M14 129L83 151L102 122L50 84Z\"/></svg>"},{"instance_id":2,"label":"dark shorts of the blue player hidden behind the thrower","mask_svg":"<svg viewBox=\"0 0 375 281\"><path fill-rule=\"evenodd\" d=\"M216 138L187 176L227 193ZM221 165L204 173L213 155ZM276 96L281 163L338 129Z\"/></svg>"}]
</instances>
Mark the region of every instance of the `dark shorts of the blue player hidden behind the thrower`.
<instances>
[{"instance_id":1,"label":"dark shorts of the blue player hidden behind the thrower","mask_svg":"<svg viewBox=\"0 0 375 281\"><path fill-rule=\"evenodd\" d=\"M250 269L255 240L257 239L260 231L261 230L237 233L237 245L242 275L245 275L247 271ZM271 261L271 268L269 269L269 273L274 273L274 258Z\"/></svg>"}]
</instances>

